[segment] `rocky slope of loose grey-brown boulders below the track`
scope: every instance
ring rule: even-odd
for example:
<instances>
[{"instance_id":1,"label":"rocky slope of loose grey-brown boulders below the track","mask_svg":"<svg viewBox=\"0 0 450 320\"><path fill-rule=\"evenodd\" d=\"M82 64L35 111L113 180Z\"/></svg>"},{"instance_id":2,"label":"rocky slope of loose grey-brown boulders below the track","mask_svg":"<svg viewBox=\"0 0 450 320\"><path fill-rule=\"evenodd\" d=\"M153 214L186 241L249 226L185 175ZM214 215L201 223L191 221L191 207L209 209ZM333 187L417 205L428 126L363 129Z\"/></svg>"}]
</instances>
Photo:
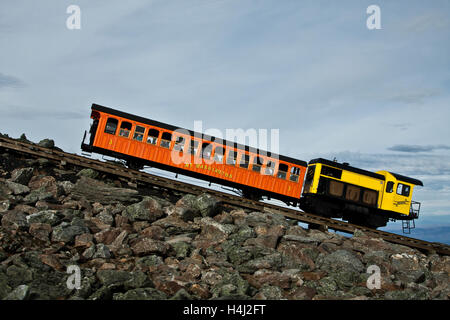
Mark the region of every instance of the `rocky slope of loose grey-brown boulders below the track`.
<instances>
[{"instance_id":1,"label":"rocky slope of loose grey-brown boulders below the track","mask_svg":"<svg viewBox=\"0 0 450 320\"><path fill-rule=\"evenodd\" d=\"M45 159L0 155L0 219L0 299L450 297L449 257Z\"/></svg>"}]
</instances>

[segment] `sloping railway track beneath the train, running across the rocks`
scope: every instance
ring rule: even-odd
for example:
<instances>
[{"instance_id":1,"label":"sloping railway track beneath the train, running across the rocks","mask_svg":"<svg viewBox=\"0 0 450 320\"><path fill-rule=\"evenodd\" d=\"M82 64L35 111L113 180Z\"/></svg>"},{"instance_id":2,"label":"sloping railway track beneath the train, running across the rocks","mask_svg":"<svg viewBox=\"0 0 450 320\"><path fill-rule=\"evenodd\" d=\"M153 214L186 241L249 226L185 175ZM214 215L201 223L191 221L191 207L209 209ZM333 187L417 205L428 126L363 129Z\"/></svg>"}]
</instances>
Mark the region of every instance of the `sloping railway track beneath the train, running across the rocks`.
<instances>
[{"instance_id":1,"label":"sloping railway track beneath the train, running across the rocks","mask_svg":"<svg viewBox=\"0 0 450 320\"><path fill-rule=\"evenodd\" d=\"M99 172L112 174L125 179L130 179L130 181L151 184L161 188L175 190L183 193L198 195L204 192L208 192L210 194L213 194L225 204L252 209L255 211L278 213L285 216L286 218L294 219L310 225L319 226L323 229L332 229L335 231L341 231L350 234L353 234L356 230L361 230L365 234L382 238L383 240L391 243L405 245L428 253L436 252L441 255L450 255L450 246L446 244L414 239L403 235L389 233L386 231L374 230L358 225L353 225L340 220L317 216L315 214L302 212L296 209L290 209L274 204L250 200L225 192L192 185L186 182L164 178L137 170L131 170L113 163L90 159L77 154L67 153L56 149L48 149L35 144L25 143L14 139L0 137L0 150L1 149L14 151L16 153L31 157L46 158L59 164L60 166L71 164L79 167L91 168Z\"/></svg>"}]
</instances>

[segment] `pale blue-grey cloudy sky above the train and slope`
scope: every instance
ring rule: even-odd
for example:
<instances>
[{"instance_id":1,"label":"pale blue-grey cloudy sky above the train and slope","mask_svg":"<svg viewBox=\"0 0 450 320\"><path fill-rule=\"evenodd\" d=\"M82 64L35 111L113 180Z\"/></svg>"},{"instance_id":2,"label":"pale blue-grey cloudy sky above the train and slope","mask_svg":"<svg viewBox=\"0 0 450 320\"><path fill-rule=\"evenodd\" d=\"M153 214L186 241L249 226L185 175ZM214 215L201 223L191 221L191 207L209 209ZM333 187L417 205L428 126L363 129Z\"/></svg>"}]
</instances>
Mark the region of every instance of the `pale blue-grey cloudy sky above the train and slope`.
<instances>
[{"instance_id":1,"label":"pale blue-grey cloudy sky above the train and slope","mask_svg":"<svg viewBox=\"0 0 450 320\"><path fill-rule=\"evenodd\" d=\"M278 129L283 155L422 180L416 227L450 243L449 16L448 0L3 0L0 132L80 153L92 103Z\"/></svg>"}]
</instances>

